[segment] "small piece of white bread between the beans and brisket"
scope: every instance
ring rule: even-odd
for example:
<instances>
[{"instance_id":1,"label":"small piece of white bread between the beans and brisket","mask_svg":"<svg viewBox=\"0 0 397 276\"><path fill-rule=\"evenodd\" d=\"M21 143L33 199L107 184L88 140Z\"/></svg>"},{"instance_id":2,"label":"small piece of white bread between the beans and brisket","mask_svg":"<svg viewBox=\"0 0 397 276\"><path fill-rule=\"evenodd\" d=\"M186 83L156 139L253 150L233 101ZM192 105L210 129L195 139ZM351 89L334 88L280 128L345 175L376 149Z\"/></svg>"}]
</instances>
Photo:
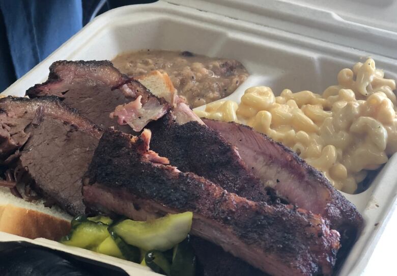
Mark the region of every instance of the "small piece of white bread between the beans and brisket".
<instances>
[{"instance_id":1,"label":"small piece of white bread between the beans and brisket","mask_svg":"<svg viewBox=\"0 0 397 276\"><path fill-rule=\"evenodd\" d=\"M134 77L155 96L164 98L172 106L176 103L177 90L168 74L160 71L152 71L149 74Z\"/></svg>"}]
</instances>

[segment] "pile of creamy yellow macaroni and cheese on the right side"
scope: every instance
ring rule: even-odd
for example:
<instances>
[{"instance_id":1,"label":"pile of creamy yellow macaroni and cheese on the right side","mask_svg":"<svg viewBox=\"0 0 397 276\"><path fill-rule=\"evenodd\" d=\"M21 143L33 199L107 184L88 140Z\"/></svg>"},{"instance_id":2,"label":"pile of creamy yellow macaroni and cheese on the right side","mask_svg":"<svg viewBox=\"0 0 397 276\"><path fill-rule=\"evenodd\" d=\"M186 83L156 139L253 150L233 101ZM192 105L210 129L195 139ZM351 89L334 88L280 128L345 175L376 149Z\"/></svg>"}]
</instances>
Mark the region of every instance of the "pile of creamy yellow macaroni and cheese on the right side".
<instances>
[{"instance_id":1,"label":"pile of creamy yellow macaroni and cheese on the right side","mask_svg":"<svg viewBox=\"0 0 397 276\"><path fill-rule=\"evenodd\" d=\"M335 188L353 194L368 170L397 151L395 80L384 78L373 59L341 70L337 80L322 95L285 89L275 96L269 87L251 87L239 105L217 101L196 114L245 122L292 148Z\"/></svg>"}]
</instances>

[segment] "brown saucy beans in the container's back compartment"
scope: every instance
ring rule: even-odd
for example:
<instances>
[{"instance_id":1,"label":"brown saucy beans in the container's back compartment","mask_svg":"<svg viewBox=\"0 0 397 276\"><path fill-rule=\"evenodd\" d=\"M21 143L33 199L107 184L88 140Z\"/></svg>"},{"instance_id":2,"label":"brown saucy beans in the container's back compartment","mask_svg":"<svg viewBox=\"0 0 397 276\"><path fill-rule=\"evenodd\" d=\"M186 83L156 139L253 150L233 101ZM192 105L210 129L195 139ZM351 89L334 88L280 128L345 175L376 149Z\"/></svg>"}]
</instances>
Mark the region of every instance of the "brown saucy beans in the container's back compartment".
<instances>
[{"instance_id":1,"label":"brown saucy beans in the container's back compartment","mask_svg":"<svg viewBox=\"0 0 397 276\"><path fill-rule=\"evenodd\" d=\"M192 107L229 96L248 77L247 70L236 60L188 51L139 50L122 53L112 62L129 76L145 75L153 70L166 72L178 95Z\"/></svg>"}]
</instances>

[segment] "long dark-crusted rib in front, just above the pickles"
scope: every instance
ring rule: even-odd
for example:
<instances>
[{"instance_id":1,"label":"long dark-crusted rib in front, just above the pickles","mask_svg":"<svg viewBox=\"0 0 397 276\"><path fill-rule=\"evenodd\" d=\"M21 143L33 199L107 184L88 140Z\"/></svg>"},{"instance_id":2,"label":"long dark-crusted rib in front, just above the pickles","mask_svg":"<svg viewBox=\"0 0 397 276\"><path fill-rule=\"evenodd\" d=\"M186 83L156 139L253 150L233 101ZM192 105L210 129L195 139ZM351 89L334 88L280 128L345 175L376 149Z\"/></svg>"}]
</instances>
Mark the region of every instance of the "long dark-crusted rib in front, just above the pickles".
<instances>
[{"instance_id":1,"label":"long dark-crusted rib in front, just above the pickles","mask_svg":"<svg viewBox=\"0 0 397 276\"><path fill-rule=\"evenodd\" d=\"M152 162L149 139L147 132L136 137L106 131L83 180L84 201L138 220L192 211L191 234L262 271L331 274L339 234L321 216L252 202L193 173Z\"/></svg>"}]
</instances>

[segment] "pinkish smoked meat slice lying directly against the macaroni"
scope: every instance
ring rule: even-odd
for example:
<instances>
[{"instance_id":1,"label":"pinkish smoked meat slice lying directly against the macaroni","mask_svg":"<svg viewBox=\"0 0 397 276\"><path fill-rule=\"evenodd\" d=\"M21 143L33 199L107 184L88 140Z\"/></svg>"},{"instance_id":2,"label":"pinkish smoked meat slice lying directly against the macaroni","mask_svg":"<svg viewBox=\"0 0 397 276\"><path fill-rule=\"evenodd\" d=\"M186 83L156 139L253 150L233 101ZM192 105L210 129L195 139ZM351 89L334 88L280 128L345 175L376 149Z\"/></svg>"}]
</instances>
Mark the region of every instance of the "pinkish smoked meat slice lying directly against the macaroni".
<instances>
[{"instance_id":1,"label":"pinkish smoked meat slice lying directly against the macaroni","mask_svg":"<svg viewBox=\"0 0 397 276\"><path fill-rule=\"evenodd\" d=\"M356 207L315 168L296 153L252 128L204 119L206 125L237 147L254 175L272 187L277 196L329 219L331 228L353 239L362 226Z\"/></svg>"}]
</instances>

